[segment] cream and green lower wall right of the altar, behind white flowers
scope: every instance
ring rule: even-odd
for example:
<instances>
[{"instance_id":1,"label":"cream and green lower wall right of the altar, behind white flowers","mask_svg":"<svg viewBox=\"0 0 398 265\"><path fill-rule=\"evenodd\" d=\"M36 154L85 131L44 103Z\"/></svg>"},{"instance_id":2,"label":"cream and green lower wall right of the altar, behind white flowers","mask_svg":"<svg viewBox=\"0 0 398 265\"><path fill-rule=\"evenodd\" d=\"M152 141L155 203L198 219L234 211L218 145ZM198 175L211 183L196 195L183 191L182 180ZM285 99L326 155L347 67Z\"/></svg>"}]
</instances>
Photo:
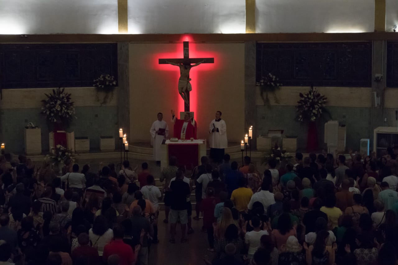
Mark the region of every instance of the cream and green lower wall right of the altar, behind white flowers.
<instances>
[{"instance_id":1,"label":"cream and green lower wall right of the altar, behind white flowers","mask_svg":"<svg viewBox=\"0 0 398 265\"><path fill-rule=\"evenodd\" d=\"M283 129L285 136L298 136L297 147L306 149L307 127L295 121L295 105L299 99L298 93L306 92L307 87L282 87L276 92L279 103L269 94L270 105L264 105L258 88L256 89L256 125L258 135L266 135L269 129ZM371 88L317 87L318 91L328 97L327 109L332 118L347 125L347 149L359 150L359 140L371 138L371 106L374 98ZM398 110L398 89L386 88L383 126L396 127ZM324 127L318 128L319 146L324 146Z\"/></svg>"}]
</instances>

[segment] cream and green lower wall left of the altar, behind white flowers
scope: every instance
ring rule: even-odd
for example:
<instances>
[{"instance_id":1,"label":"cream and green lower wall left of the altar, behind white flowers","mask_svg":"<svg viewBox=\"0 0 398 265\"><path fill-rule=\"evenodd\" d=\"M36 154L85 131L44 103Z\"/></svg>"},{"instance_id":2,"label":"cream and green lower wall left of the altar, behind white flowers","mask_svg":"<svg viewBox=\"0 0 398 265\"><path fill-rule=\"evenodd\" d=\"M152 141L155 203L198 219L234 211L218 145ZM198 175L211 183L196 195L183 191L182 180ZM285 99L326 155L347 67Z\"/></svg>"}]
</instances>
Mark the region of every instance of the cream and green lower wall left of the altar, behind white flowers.
<instances>
[{"instance_id":1,"label":"cream and green lower wall left of the altar, behind white flowers","mask_svg":"<svg viewBox=\"0 0 398 265\"><path fill-rule=\"evenodd\" d=\"M100 106L94 88L66 88L72 93L76 106L76 117L67 131L74 131L75 136L88 136L90 149L100 149L100 136L118 137L117 88L113 99L107 105ZM2 141L7 149L20 153L24 150L23 126L32 122L41 128L41 145L43 152L49 150L49 129L41 111L41 100L44 93L51 93L51 88L3 89L0 101L0 130ZM117 139L118 140L118 139Z\"/></svg>"}]
</instances>

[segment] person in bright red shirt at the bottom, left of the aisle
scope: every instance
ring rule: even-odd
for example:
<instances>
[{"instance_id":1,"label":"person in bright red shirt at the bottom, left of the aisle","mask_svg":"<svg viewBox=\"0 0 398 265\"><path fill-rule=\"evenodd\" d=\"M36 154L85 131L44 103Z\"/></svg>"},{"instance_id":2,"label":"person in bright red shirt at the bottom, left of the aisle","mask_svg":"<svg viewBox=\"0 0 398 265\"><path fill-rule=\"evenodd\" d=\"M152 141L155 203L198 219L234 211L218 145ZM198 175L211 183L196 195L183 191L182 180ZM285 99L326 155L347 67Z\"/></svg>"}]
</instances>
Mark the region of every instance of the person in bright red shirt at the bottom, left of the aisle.
<instances>
[{"instance_id":1,"label":"person in bright red shirt at the bottom, left of the aisle","mask_svg":"<svg viewBox=\"0 0 398 265\"><path fill-rule=\"evenodd\" d=\"M125 228L120 224L113 227L113 240L103 248L102 259L105 263L109 256L116 254L120 258L119 265L135 265L140 245L133 250L130 245L123 242L124 233Z\"/></svg>"}]
</instances>

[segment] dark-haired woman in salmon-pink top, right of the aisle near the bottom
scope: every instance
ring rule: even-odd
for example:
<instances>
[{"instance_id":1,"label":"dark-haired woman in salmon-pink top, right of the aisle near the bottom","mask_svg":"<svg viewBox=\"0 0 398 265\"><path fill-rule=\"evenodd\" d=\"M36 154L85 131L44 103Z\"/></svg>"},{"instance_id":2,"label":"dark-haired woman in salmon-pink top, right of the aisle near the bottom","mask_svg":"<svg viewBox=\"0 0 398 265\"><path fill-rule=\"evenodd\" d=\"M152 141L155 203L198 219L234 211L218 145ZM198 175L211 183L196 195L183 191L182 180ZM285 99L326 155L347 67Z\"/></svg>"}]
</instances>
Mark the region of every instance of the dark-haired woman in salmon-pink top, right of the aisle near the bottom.
<instances>
[{"instance_id":1,"label":"dark-haired woman in salmon-pink top, right of the aisle near the bottom","mask_svg":"<svg viewBox=\"0 0 398 265\"><path fill-rule=\"evenodd\" d=\"M271 233L272 242L274 245L281 249L283 244L286 244L289 236L297 237L296 231L297 224L292 224L290 215L286 212L281 214L278 218L277 228Z\"/></svg>"}]
</instances>

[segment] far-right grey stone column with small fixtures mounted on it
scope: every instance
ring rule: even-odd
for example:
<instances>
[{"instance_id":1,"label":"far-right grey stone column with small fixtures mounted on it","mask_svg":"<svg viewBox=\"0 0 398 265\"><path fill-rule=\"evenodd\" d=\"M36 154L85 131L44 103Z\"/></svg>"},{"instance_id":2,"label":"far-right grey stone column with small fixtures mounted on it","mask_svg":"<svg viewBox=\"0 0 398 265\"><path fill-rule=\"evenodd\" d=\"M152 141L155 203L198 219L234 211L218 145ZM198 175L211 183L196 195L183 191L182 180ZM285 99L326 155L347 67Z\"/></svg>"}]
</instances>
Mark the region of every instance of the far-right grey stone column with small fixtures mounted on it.
<instances>
[{"instance_id":1,"label":"far-right grey stone column with small fixtures mounted on it","mask_svg":"<svg viewBox=\"0 0 398 265\"><path fill-rule=\"evenodd\" d=\"M372 56L372 102L371 102L371 149L373 150L373 130L379 126L386 126L384 122L384 95L386 88L386 41L373 41ZM375 82L375 75L382 74L380 82ZM380 106L375 107L375 94L380 97Z\"/></svg>"}]
</instances>

